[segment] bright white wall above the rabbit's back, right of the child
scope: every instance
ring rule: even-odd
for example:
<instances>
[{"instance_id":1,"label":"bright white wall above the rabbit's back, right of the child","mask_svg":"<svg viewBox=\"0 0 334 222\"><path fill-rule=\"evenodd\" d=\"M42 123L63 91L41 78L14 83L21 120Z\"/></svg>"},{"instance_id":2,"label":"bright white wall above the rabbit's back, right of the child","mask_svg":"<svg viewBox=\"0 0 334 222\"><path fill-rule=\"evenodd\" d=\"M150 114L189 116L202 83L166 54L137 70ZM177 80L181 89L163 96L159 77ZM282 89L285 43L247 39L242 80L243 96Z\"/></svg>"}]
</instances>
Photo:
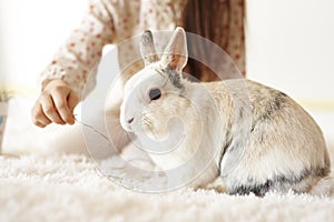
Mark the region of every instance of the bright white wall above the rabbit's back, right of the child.
<instances>
[{"instance_id":1,"label":"bright white wall above the rabbit's back, right of the child","mask_svg":"<svg viewBox=\"0 0 334 222\"><path fill-rule=\"evenodd\" d=\"M334 105L334 1L247 2L249 78Z\"/></svg>"}]
</instances>

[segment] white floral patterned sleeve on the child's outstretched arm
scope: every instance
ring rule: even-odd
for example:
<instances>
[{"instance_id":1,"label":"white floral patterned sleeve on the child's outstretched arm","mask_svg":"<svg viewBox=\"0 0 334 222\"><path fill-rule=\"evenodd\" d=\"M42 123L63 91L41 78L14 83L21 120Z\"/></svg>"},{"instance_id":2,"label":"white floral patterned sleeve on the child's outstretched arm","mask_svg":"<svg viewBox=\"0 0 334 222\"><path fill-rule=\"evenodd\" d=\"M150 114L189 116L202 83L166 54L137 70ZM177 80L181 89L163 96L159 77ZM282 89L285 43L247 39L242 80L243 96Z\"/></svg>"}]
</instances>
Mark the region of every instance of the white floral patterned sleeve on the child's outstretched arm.
<instances>
[{"instance_id":1,"label":"white floral patterned sleeve on the child's outstretched arm","mask_svg":"<svg viewBox=\"0 0 334 222\"><path fill-rule=\"evenodd\" d=\"M102 47L116 39L111 13L105 1L91 2L80 28L72 31L42 72L42 82L62 79L81 95L88 74L100 60ZM89 84L92 88L95 82Z\"/></svg>"}]
</instances>

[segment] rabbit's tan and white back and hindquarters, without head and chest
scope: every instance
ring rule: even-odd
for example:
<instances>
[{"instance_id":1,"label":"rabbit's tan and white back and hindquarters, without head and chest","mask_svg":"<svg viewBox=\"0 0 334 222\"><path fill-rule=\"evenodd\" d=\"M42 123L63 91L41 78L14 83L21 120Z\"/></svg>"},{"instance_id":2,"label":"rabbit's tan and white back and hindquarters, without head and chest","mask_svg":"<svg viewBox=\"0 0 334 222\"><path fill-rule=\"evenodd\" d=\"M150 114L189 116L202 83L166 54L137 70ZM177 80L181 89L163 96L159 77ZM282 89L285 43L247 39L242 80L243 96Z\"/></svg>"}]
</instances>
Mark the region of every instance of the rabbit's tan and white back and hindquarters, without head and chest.
<instances>
[{"instance_id":1,"label":"rabbit's tan and white back and hindquarters, without head and chest","mask_svg":"<svg viewBox=\"0 0 334 222\"><path fill-rule=\"evenodd\" d=\"M288 95L249 80L207 85L228 119L219 167L229 193L306 192L330 173L321 129Z\"/></svg>"}]
</instances>

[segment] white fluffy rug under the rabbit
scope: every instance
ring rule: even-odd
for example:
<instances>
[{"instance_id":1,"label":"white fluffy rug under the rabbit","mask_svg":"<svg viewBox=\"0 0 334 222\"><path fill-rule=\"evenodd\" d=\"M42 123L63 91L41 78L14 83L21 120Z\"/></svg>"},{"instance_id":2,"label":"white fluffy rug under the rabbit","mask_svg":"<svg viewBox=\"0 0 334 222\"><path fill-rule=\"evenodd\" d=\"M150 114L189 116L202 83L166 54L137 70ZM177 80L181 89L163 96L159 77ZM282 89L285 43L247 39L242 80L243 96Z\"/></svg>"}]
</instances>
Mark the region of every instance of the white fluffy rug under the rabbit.
<instances>
[{"instance_id":1,"label":"white fluffy rug under the rabbit","mask_svg":"<svg viewBox=\"0 0 334 222\"><path fill-rule=\"evenodd\" d=\"M334 199L145 194L100 175L84 155L0 158L1 221L333 221Z\"/></svg>"}]
</instances>

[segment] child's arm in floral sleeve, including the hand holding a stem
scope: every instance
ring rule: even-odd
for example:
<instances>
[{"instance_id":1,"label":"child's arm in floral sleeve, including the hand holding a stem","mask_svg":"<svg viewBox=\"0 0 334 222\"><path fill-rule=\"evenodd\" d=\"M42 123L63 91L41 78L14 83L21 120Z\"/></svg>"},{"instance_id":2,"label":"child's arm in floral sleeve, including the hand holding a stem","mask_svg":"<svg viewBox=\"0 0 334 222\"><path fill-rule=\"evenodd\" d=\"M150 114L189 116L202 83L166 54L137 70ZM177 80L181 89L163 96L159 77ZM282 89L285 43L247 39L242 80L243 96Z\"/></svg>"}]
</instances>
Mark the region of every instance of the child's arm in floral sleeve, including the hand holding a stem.
<instances>
[{"instance_id":1,"label":"child's arm in floral sleeve, including the hand holding a stem","mask_svg":"<svg viewBox=\"0 0 334 222\"><path fill-rule=\"evenodd\" d=\"M108 9L114 7L114 10ZM110 1L95 1L81 27L70 34L42 73L42 90L32 108L32 121L38 127L51 122L73 124L72 111L80 101L88 74L100 60L105 44L116 40L114 18L120 10ZM117 14L118 16L118 14ZM92 88L94 82L89 82Z\"/></svg>"}]
</instances>

